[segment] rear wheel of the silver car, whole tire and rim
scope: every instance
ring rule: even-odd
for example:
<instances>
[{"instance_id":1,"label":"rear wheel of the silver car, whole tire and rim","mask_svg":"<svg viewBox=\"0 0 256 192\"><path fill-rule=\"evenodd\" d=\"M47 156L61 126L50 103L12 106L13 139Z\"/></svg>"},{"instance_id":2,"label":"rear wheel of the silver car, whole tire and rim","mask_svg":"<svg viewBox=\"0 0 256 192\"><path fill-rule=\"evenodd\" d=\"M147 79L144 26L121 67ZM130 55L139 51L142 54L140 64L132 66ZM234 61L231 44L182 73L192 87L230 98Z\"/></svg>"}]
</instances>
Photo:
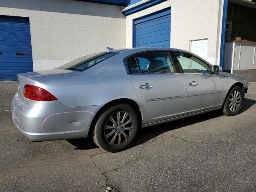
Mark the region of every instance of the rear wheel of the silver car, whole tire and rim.
<instances>
[{"instance_id":1,"label":"rear wheel of the silver car, whole tire and rim","mask_svg":"<svg viewBox=\"0 0 256 192\"><path fill-rule=\"evenodd\" d=\"M139 126L137 113L128 104L115 104L100 114L93 131L94 142L108 152L126 148Z\"/></svg>"}]
</instances>

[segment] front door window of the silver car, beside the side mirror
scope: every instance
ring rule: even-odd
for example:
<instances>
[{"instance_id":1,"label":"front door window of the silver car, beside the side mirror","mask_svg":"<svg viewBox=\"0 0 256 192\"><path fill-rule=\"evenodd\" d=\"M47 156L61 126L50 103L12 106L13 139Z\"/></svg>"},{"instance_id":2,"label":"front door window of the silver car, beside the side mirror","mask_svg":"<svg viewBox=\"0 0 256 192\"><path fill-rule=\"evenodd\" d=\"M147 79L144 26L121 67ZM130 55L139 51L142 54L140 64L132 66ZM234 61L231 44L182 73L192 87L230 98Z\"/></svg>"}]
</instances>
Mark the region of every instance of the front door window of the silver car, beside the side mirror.
<instances>
[{"instance_id":1,"label":"front door window of the silver car, beside the side mirror","mask_svg":"<svg viewBox=\"0 0 256 192\"><path fill-rule=\"evenodd\" d=\"M210 73L209 66L198 58L180 52L174 52L185 73Z\"/></svg>"}]
</instances>

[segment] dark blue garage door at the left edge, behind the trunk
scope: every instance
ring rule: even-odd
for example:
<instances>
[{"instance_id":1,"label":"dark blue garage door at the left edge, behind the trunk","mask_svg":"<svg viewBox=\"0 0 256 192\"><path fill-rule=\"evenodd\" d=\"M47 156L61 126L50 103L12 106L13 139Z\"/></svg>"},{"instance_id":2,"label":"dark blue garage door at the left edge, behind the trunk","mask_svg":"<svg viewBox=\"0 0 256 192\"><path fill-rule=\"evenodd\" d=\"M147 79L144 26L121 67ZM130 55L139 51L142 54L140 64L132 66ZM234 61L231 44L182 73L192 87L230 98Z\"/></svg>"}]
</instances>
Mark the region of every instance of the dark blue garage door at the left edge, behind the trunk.
<instances>
[{"instance_id":1,"label":"dark blue garage door at the left edge, behind the trunk","mask_svg":"<svg viewBox=\"0 0 256 192\"><path fill-rule=\"evenodd\" d=\"M0 16L0 80L33 71L28 18Z\"/></svg>"}]
</instances>

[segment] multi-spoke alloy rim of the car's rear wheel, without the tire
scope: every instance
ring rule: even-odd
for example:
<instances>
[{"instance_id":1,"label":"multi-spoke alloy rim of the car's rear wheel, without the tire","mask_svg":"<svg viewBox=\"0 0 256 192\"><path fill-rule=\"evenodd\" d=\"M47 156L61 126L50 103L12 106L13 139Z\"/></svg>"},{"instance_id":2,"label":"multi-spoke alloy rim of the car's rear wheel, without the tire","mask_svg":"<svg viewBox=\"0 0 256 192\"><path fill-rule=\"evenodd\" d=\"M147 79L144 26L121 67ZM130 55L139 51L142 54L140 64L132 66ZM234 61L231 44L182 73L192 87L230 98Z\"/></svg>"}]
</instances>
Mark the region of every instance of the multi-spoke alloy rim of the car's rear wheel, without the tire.
<instances>
[{"instance_id":1,"label":"multi-spoke alloy rim of the car's rear wheel, without the tire","mask_svg":"<svg viewBox=\"0 0 256 192\"><path fill-rule=\"evenodd\" d=\"M120 146L126 142L134 130L132 116L124 111L118 111L110 115L104 126L106 141L114 146Z\"/></svg>"}]
</instances>

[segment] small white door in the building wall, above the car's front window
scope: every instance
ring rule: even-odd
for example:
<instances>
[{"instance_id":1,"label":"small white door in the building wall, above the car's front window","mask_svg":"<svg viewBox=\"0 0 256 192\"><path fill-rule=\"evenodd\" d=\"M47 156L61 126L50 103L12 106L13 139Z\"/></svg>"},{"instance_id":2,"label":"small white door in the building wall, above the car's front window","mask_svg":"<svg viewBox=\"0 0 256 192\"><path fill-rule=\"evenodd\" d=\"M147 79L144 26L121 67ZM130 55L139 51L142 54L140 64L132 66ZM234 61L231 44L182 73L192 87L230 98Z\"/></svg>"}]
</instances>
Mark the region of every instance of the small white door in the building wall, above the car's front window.
<instances>
[{"instance_id":1,"label":"small white door in the building wall, above the car's front window","mask_svg":"<svg viewBox=\"0 0 256 192\"><path fill-rule=\"evenodd\" d=\"M208 39L191 41L190 51L207 61Z\"/></svg>"}]
</instances>

